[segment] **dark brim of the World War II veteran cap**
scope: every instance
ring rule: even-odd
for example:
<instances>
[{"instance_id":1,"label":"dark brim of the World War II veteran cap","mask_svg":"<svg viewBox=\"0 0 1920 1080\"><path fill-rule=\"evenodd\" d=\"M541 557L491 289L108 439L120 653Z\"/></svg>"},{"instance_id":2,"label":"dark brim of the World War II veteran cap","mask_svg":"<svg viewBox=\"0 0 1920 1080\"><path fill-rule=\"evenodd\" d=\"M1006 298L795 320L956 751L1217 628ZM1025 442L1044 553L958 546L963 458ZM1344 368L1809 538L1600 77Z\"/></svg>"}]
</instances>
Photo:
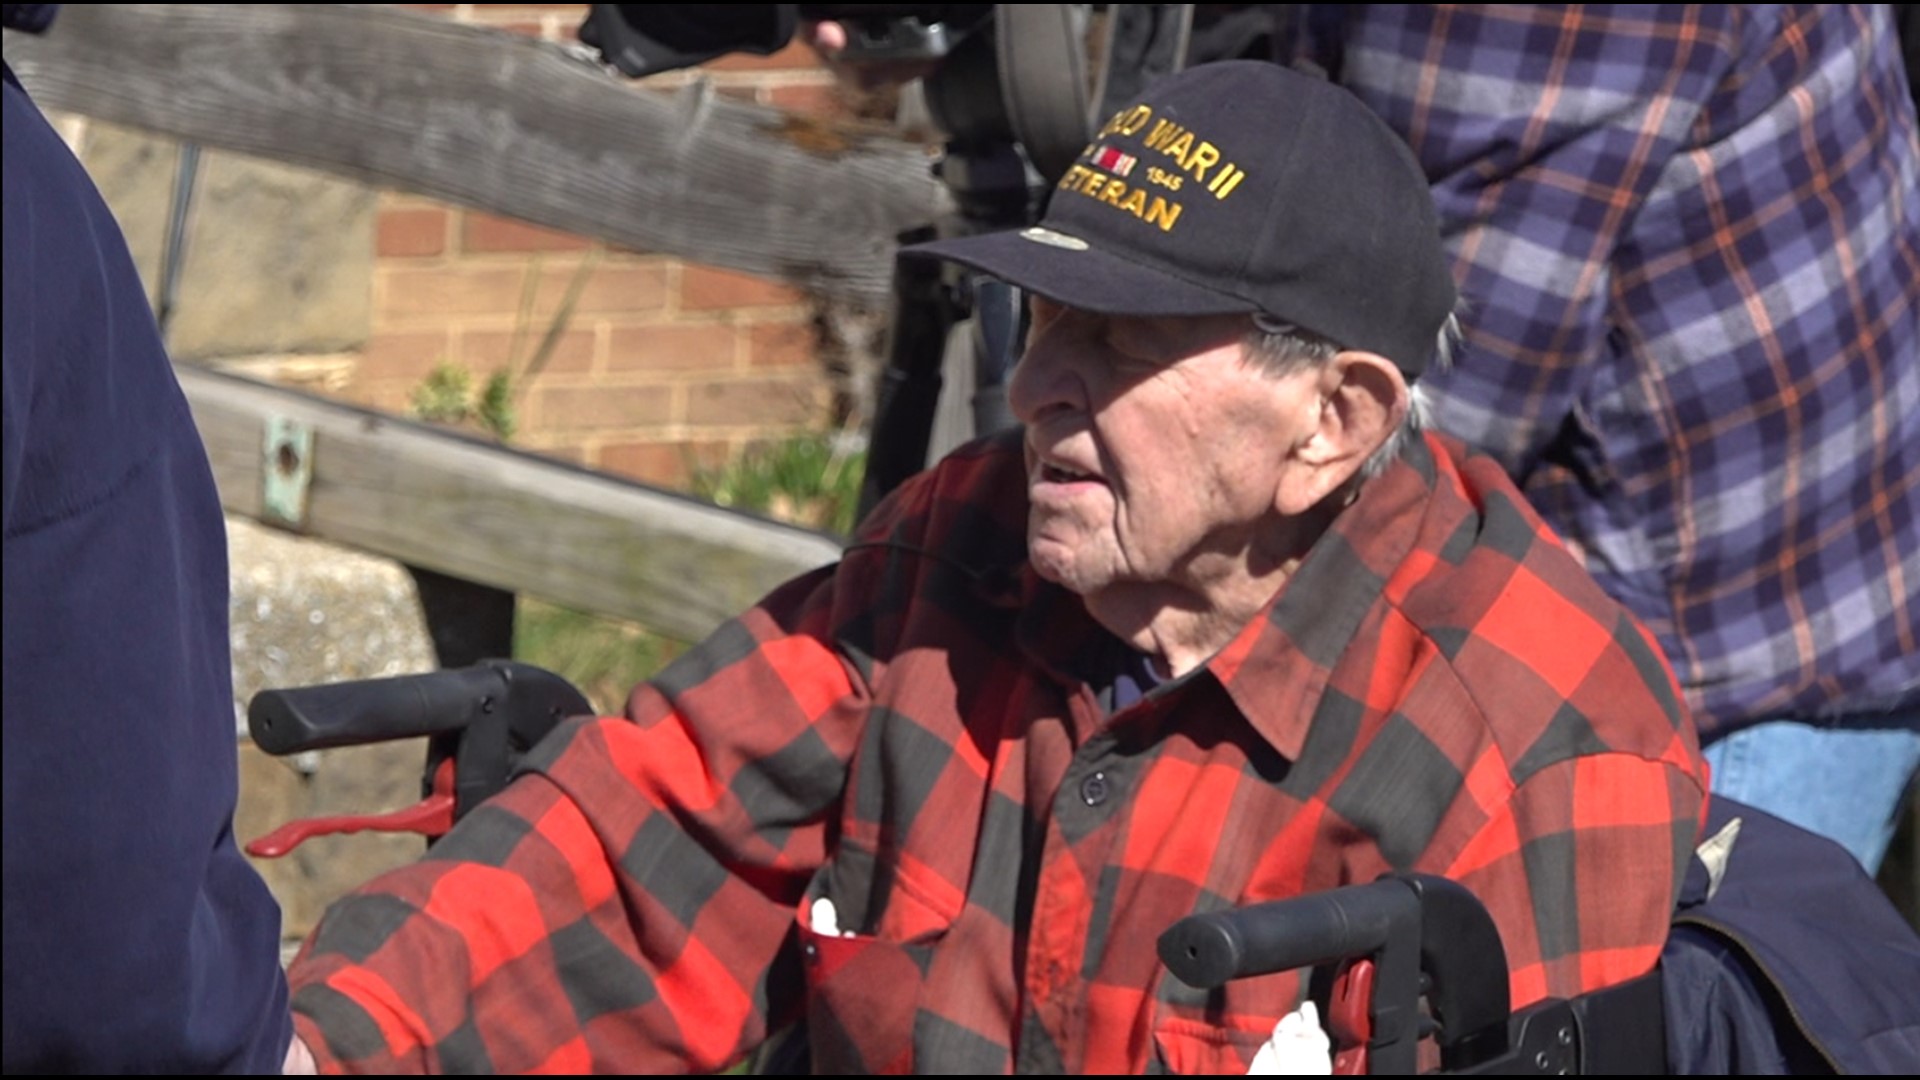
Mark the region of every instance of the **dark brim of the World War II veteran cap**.
<instances>
[{"instance_id":1,"label":"dark brim of the World War II veteran cap","mask_svg":"<svg viewBox=\"0 0 1920 1080\"><path fill-rule=\"evenodd\" d=\"M1046 233L1054 240L1033 238ZM948 259L1102 315L1233 315L1260 306L1046 229L952 236L900 248L900 258Z\"/></svg>"}]
</instances>

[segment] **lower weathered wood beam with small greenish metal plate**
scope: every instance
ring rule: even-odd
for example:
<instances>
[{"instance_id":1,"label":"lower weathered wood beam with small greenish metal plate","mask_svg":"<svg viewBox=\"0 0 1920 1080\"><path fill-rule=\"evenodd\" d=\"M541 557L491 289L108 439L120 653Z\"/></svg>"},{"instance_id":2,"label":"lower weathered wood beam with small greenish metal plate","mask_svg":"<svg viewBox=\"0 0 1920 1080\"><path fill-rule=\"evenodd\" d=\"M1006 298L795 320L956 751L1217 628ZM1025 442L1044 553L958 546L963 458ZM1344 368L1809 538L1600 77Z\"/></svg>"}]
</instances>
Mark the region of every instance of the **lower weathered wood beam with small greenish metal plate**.
<instances>
[{"instance_id":1,"label":"lower weathered wood beam with small greenish metal plate","mask_svg":"<svg viewBox=\"0 0 1920 1080\"><path fill-rule=\"evenodd\" d=\"M463 580L699 640L839 557L780 525L300 390L177 367L228 511L273 521L269 469L309 469L298 528ZM269 457L269 421L311 432Z\"/></svg>"}]
</instances>

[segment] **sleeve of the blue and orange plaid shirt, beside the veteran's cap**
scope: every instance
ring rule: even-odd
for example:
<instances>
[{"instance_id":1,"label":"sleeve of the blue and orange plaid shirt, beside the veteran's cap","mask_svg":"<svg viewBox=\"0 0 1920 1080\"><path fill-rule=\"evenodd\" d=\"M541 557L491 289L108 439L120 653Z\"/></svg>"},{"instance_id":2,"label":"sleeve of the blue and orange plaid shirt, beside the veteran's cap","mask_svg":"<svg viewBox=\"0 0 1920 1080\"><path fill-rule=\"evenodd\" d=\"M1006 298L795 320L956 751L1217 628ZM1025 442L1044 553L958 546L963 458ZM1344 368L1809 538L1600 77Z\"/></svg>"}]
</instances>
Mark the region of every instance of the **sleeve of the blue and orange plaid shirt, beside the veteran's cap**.
<instances>
[{"instance_id":1,"label":"sleeve of the blue and orange plaid shirt, beside the veteran's cap","mask_svg":"<svg viewBox=\"0 0 1920 1080\"><path fill-rule=\"evenodd\" d=\"M1415 390L1524 480L1609 350L1613 256L1720 77L1736 6L1369 4L1342 83L1407 138L1461 282L1463 348Z\"/></svg>"}]
</instances>

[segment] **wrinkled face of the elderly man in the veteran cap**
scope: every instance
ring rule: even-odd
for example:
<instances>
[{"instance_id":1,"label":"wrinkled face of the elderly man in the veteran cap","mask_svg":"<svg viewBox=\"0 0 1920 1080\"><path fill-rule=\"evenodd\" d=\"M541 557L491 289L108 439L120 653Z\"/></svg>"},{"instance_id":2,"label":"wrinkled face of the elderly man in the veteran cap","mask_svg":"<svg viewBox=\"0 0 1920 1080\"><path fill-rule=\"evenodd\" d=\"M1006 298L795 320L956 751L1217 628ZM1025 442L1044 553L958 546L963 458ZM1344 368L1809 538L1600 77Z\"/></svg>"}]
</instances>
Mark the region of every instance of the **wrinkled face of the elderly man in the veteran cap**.
<instances>
[{"instance_id":1,"label":"wrinkled face of the elderly man in the veteran cap","mask_svg":"<svg viewBox=\"0 0 1920 1080\"><path fill-rule=\"evenodd\" d=\"M1033 300L1008 398L1027 425L1027 548L1041 577L1094 598L1244 571L1290 448L1313 429L1311 373L1246 359L1244 315L1139 319Z\"/></svg>"}]
</instances>

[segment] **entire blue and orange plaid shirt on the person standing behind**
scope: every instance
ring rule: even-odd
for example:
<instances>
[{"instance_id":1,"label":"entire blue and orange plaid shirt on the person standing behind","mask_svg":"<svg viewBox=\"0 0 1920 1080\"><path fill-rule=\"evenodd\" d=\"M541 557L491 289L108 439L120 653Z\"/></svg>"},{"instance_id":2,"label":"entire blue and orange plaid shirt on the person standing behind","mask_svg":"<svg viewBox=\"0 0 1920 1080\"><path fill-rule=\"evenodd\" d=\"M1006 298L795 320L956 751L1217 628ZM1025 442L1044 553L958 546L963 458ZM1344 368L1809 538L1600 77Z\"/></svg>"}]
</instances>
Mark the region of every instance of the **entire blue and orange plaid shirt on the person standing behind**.
<instances>
[{"instance_id":1,"label":"entire blue and orange plaid shirt on the person standing behind","mask_svg":"<svg viewBox=\"0 0 1920 1080\"><path fill-rule=\"evenodd\" d=\"M1920 703L1920 144L1889 12L1306 19L1455 256L1467 344L1417 394L1653 630L1707 738Z\"/></svg>"}]
</instances>

